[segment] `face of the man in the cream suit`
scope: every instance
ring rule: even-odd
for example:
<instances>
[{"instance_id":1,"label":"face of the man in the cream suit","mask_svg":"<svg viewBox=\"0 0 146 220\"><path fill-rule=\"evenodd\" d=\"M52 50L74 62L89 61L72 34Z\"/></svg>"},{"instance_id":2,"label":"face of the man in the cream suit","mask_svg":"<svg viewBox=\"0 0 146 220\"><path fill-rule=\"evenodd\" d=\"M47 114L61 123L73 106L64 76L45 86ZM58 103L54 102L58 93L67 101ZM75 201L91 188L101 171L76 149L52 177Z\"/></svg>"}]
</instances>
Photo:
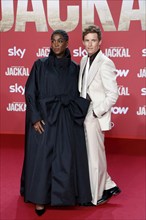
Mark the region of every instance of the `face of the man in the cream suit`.
<instances>
[{"instance_id":1,"label":"face of the man in the cream suit","mask_svg":"<svg viewBox=\"0 0 146 220\"><path fill-rule=\"evenodd\" d=\"M96 33L89 33L84 36L83 44L89 56L92 56L92 54L99 50L101 41L99 41Z\"/></svg>"}]
</instances>

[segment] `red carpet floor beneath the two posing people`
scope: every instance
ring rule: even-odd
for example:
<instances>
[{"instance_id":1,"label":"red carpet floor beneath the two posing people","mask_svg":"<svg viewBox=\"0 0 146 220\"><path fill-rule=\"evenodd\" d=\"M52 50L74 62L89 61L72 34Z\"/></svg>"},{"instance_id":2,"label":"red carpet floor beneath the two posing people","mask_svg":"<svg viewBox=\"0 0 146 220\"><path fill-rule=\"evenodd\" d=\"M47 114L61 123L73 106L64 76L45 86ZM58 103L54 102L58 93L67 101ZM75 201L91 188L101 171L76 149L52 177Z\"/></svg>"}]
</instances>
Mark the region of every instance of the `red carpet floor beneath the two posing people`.
<instances>
[{"instance_id":1,"label":"red carpet floor beneath the two posing people","mask_svg":"<svg viewBox=\"0 0 146 220\"><path fill-rule=\"evenodd\" d=\"M146 220L144 140L106 139L108 170L121 194L98 207L48 207L42 217L19 195L23 141L21 135L1 135L0 220Z\"/></svg>"}]
</instances>

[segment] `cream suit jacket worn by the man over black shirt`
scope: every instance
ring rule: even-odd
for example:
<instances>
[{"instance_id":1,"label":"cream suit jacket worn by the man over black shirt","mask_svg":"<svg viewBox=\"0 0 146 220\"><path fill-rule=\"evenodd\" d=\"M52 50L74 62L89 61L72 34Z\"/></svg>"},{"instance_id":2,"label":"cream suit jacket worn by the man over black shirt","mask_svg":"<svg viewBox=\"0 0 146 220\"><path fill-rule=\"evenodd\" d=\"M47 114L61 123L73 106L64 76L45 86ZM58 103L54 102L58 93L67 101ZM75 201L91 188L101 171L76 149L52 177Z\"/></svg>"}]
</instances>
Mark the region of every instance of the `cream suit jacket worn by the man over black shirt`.
<instances>
[{"instance_id":1,"label":"cream suit jacket worn by the man over black shirt","mask_svg":"<svg viewBox=\"0 0 146 220\"><path fill-rule=\"evenodd\" d=\"M82 74L87 62L87 56L80 63L79 92L82 87ZM102 131L111 129L111 107L118 99L116 68L111 59L102 51L96 55L88 74L87 93L91 99L90 110L96 114Z\"/></svg>"}]
</instances>

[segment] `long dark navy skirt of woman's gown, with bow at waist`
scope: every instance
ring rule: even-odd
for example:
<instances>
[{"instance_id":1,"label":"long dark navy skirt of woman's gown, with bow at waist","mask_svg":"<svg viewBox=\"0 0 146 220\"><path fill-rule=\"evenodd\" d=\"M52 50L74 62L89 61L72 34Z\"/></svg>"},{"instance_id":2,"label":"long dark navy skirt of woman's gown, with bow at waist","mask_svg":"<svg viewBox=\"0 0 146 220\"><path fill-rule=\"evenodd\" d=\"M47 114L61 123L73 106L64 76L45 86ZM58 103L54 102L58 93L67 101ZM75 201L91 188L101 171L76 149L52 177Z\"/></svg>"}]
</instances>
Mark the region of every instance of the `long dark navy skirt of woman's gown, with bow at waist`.
<instances>
[{"instance_id":1,"label":"long dark navy skirt of woman's gown, with bow at waist","mask_svg":"<svg viewBox=\"0 0 146 220\"><path fill-rule=\"evenodd\" d=\"M26 115L21 195L25 202L53 206L91 201L83 121L88 104L82 98L40 100L43 134ZM48 114L49 112L49 114Z\"/></svg>"}]
</instances>

